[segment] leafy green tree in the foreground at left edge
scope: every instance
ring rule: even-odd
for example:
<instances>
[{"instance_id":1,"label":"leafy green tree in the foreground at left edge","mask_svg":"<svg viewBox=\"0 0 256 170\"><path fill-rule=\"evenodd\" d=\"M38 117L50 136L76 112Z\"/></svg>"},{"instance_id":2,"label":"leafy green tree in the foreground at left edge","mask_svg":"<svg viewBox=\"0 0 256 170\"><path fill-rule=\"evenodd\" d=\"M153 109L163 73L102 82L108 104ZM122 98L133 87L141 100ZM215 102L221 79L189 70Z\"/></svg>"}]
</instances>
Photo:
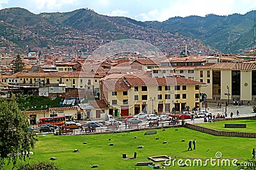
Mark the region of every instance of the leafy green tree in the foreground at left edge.
<instances>
[{"instance_id":1,"label":"leafy green tree in the foreground at left edge","mask_svg":"<svg viewBox=\"0 0 256 170\"><path fill-rule=\"evenodd\" d=\"M35 146L34 132L29 129L29 118L19 110L15 97L0 101L0 169L8 161L25 160Z\"/></svg>"}]
</instances>

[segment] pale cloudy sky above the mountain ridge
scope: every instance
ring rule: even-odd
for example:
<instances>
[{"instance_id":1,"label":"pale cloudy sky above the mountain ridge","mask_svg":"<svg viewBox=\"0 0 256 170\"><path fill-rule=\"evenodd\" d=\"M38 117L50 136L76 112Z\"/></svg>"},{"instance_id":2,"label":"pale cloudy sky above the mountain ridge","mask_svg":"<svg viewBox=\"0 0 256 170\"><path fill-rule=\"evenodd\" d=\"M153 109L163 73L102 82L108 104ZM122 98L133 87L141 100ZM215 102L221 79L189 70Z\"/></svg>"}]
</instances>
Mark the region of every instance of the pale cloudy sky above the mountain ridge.
<instances>
[{"instance_id":1,"label":"pale cloudy sky above the mountain ridge","mask_svg":"<svg viewBox=\"0 0 256 170\"><path fill-rule=\"evenodd\" d=\"M3 8L20 7L32 13L67 12L90 8L102 15L164 21L171 17L244 14L256 10L256 0L0 0Z\"/></svg>"}]
</instances>

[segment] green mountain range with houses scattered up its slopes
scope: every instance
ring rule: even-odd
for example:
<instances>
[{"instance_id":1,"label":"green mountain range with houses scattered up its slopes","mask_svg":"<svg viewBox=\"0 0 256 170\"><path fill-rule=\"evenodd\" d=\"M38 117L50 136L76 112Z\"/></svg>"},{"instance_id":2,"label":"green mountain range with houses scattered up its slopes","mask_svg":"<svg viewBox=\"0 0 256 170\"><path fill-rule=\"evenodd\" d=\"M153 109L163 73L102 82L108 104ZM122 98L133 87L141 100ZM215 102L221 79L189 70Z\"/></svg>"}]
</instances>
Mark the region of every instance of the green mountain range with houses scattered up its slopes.
<instances>
[{"instance_id":1,"label":"green mountain range with houses scattered up its slopes","mask_svg":"<svg viewBox=\"0 0 256 170\"><path fill-rule=\"evenodd\" d=\"M74 36L67 41L67 34L75 32L77 37L85 34L87 38L95 39L93 41L104 40L104 43L116 39L141 39L168 55L173 55L172 51L180 46L184 49L184 44L188 45L188 50L211 52L208 50L211 46L212 52L239 53L255 47L254 27L255 11L244 15L209 14L205 17L173 17L164 22L140 22L127 17L100 15L87 8L37 15L23 8L5 8L0 10L0 46L16 46L20 50L26 50L28 45L32 49L72 46ZM185 43L177 44L176 40ZM81 51L93 50L88 45L87 48Z\"/></svg>"}]
</instances>

